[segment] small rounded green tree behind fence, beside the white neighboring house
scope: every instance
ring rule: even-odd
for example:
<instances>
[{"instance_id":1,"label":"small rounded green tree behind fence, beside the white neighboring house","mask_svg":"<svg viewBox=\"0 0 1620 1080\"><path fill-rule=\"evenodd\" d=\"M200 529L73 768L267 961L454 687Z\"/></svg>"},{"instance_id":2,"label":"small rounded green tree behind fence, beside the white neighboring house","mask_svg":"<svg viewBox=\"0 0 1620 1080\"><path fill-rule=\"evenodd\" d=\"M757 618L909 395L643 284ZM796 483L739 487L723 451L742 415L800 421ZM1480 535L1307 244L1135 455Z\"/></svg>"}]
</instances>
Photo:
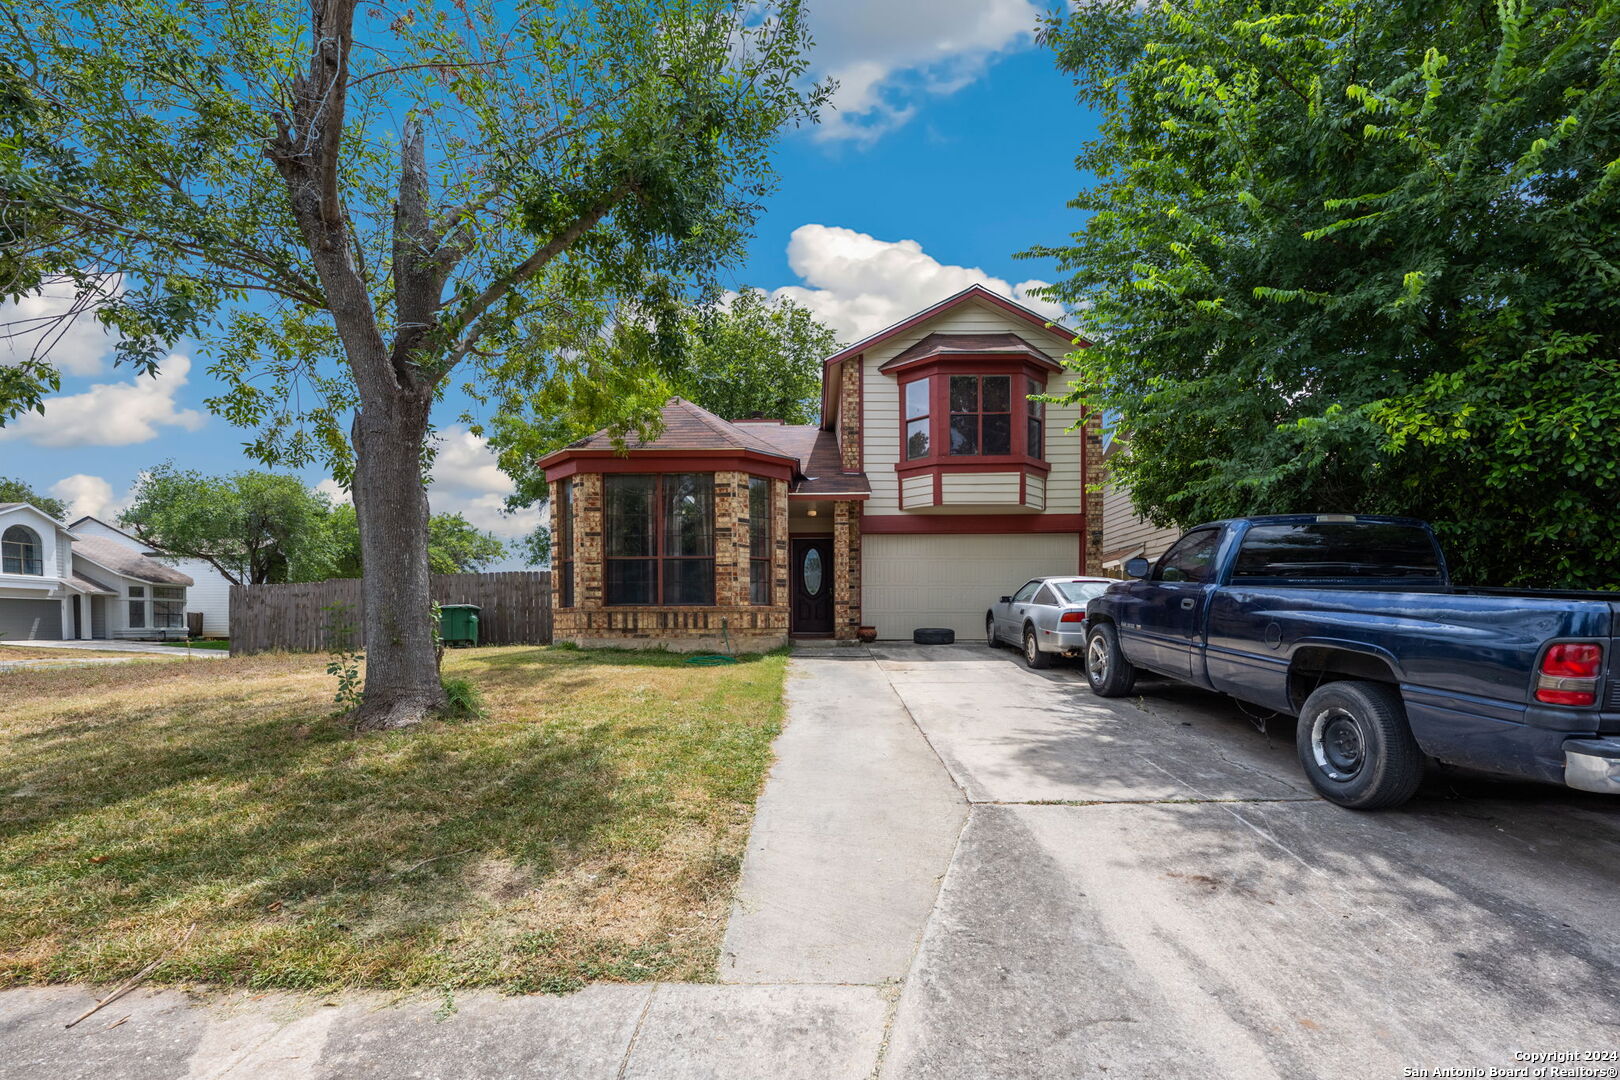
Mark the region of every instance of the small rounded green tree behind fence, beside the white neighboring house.
<instances>
[{"instance_id":1,"label":"small rounded green tree behind fence, beside the white neighboring house","mask_svg":"<svg viewBox=\"0 0 1620 1080\"><path fill-rule=\"evenodd\" d=\"M202 559L233 585L319 581L330 575L332 505L295 476L206 476L159 465L136 481L118 521L170 555Z\"/></svg>"}]
</instances>

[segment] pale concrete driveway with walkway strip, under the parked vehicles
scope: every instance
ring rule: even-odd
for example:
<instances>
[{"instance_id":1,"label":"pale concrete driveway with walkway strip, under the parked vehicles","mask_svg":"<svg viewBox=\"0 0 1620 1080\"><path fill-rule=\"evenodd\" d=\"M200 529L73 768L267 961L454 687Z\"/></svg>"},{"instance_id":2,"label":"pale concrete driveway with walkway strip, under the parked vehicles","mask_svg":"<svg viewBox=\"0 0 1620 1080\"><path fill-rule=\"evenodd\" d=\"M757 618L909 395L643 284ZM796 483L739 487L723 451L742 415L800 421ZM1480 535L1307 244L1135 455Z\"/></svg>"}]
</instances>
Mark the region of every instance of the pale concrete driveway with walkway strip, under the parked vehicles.
<instances>
[{"instance_id":1,"label":"pale concrete driveway with walkway strip, under the parked vehicles","mask_svg":"<svg viewBox=\"0 0 1620 1080\"><path fill-rule=\"evenodd\" d=\"M982 644L792 667L721 980L897 988L875 1075L1620 1051L1615 801L1434 776L1353 813L1306 785L1291 721L1187 688L1102 701Z\"/></svg>"}]
</instances>

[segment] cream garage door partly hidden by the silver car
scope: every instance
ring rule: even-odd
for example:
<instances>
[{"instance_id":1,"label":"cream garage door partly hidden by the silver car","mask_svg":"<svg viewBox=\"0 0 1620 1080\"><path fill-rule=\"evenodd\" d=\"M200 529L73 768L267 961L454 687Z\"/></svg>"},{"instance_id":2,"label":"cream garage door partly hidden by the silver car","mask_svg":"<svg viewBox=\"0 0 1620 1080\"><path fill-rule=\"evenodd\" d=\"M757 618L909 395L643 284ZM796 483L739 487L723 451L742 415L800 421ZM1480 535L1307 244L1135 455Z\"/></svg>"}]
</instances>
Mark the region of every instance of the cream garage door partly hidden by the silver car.
<instances>
[{"instance_id":1,"label":"cream garage door partly hidden by the silver car","mask_svg":"<svg viewBox=\"0 0 1620 1080\"><path fill-rule=\"evenodd\" d=\"M1030 578L1074 573L1081 538L896 536L860 538L860 620L880 638L910 638L917 627L949 627L959 638L985 633L990 604Z\"/></svg>"}]
</instances>

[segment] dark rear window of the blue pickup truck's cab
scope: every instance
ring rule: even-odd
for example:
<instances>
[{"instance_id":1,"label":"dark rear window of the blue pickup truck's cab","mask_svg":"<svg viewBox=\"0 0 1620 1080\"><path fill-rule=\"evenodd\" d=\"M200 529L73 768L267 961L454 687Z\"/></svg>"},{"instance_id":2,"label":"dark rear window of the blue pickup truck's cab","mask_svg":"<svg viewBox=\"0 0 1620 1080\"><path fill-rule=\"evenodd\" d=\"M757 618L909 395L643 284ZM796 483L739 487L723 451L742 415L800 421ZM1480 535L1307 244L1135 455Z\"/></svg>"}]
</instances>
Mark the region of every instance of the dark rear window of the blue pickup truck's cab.
<instances>
[{"instance_id":1,"label":"dark rear window of the blue pickup truck's cab","mask_svg":"<svg viewBox=\"0 0 1620 1080\"><path fill-rule=\"evenodd\" d=\"M1390 521L1256 525L1243 536L1238 578L1396 578L1440 581L1429 533Z\"/></svg>"}]
</instances>

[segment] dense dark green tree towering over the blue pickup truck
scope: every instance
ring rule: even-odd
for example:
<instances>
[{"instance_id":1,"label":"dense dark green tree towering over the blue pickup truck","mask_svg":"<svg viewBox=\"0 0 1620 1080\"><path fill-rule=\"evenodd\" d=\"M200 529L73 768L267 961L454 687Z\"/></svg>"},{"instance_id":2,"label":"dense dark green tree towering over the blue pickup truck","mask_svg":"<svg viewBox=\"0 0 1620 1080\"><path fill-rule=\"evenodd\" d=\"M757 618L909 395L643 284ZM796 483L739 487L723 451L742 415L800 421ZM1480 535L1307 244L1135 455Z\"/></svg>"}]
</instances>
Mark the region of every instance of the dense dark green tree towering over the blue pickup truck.
<instances>
[{"instance_id":1,"label":"dense dark green tree towering over the blue pickup truck","mask_svg":"<svg viewBox=\"0 0 1620 1080\"><path fill-rule=\"evenodd\" d=\"M1464 580L1620 585L1620 5L1089 3L1051 290L1158 523L1434 520Z\"/></svg>"}]
</instances>

